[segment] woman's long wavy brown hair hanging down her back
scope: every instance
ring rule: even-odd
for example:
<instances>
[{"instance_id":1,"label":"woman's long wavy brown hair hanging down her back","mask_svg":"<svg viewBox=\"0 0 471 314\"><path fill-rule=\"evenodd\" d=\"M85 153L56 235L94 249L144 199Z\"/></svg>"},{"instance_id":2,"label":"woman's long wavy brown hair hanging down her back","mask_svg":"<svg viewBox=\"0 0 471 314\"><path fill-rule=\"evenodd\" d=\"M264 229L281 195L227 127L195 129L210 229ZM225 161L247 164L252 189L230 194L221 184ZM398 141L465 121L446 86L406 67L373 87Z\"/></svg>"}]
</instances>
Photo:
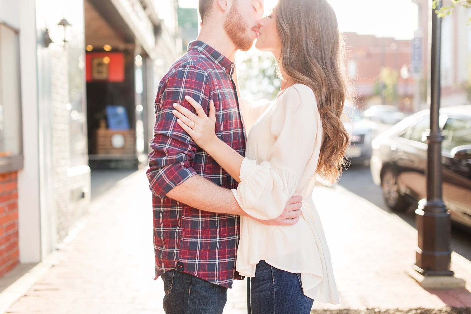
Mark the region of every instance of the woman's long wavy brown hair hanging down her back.
<instances>
[{"instance_id":1,"label":"woman's long wavy brown hair hanging down her back","mask_svg":"<svg viewBox=\"0 0 471 314\"><path fill-rule=\"evenodd\" d=\"M275 13L282 46L278 74L314 91L324 129L317 173L332 184L350 143L342 121L349 92L337 17L326 0L279 0Z\"/></svg>"}]
</instances>

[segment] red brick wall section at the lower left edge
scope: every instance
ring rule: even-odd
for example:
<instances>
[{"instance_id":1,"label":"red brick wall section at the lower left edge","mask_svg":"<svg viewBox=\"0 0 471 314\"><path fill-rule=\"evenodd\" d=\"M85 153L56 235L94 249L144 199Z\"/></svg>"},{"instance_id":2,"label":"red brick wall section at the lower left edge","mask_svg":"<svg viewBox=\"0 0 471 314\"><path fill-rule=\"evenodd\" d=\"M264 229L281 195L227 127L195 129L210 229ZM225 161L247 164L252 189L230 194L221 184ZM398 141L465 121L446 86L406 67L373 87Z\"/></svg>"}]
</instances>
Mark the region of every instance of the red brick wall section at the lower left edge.
<instances>
[{"instance_id":1,"label":"red brick wall section at the lower left edge","mask_svg":"<svg viewBox=\"0 0 471 314\"><path fill-rule=\"evenodd\" d=\"M19 262L17 173L0 174L0 277Z\"/></svg>"}]
</instances>

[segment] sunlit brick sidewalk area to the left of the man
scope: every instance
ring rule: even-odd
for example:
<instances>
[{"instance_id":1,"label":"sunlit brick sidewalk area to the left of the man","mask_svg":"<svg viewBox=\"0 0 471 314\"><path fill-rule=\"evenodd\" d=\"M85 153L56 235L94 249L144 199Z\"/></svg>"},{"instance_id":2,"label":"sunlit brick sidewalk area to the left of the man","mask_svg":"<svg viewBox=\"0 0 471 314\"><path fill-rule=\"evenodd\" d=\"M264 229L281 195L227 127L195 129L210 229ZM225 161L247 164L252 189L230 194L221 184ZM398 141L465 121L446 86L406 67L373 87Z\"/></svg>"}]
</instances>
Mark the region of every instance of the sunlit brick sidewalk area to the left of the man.
<instances>
[{"instance_id":1,"label":"sunlit brick sidewalk area to the left of the man","mask_svg":"<svg viewBox=\"0 0 471 314\"><path fill-rule=\"evenodd\" d=\"M162 281L153 281L151 193L145 171L92 202L83 228L54 252L53 266L6 313L160 314Z\"/></svg>"}]
</instances>

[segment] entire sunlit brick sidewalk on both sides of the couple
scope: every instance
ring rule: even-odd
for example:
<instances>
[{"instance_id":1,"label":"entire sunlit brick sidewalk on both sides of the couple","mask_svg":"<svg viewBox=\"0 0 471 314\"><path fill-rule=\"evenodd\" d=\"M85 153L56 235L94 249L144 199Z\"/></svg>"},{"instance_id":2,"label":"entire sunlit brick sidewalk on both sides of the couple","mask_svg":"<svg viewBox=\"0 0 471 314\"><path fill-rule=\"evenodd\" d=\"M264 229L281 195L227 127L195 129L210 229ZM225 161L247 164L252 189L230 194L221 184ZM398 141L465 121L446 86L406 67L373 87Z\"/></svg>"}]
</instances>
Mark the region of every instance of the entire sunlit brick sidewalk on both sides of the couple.
<instances>
[{"instance_id":1,"label":"entire sunlit brick sidewalk on both sides of the couple","mask_svg":"<svg viewBox=\"0 0 471 314\"><path fill-rule=\"evenodd\" d=\"M453 255L467 290L424 290L405 270L414 263L413 227L340 188L314 199L330 245L341 305L314 310L471 306L471 263ZM53 253L58 264L6 313L160 314L162 281L153 281L151 193L145 170L95 198L76 237ZM245 281L229 290L224 314L245 314Z\"/></svg>"}]
</instances>

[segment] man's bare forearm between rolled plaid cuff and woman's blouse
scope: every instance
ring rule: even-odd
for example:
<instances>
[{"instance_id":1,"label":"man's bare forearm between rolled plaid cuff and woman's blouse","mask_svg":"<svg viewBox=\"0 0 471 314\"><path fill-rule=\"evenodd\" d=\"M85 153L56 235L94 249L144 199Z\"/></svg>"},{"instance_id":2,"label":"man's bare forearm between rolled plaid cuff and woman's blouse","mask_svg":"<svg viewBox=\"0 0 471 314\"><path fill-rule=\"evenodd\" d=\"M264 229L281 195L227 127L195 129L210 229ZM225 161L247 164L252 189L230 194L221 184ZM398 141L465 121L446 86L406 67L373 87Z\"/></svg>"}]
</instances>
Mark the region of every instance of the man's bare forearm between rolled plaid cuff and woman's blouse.
<instances>
[{"instance_id":1,"label":"man's bare forearm between rolled plaid cuff and woman's blouse","mask_svg":"<svg viewBox=\"0 0 471 314\"><path fill-rule=\"evenodd\" d=\"M231 190L196 175L175 186L167 197L188 206L214 213L246 215Z\"/></svg>"}]
</instances>

